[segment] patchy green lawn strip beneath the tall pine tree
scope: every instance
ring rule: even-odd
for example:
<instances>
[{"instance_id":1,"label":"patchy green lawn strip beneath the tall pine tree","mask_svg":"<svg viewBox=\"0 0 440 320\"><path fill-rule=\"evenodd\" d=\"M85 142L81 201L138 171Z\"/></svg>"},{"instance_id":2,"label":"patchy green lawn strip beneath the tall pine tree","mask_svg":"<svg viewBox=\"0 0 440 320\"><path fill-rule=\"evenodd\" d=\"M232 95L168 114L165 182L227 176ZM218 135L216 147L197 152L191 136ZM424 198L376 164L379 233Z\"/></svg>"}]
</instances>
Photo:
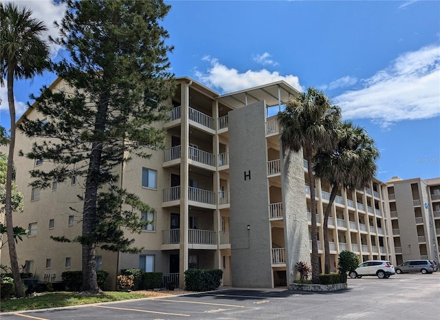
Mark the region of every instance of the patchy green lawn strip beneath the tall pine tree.
<instances>
[{"instance_id":1,"label":"patchy green lawn strip beneath the tall pine tree","mask_svg":"<svg viewBox=\"0 0 440 320\"><path fill-rule=\"evenodd\" d=\"M78 295L76 292L45 292L34 297L1 300L0 312L36 310L83 304L146 298L135 292L106 291L103 295Z\"/></svg>"}]
</instances>

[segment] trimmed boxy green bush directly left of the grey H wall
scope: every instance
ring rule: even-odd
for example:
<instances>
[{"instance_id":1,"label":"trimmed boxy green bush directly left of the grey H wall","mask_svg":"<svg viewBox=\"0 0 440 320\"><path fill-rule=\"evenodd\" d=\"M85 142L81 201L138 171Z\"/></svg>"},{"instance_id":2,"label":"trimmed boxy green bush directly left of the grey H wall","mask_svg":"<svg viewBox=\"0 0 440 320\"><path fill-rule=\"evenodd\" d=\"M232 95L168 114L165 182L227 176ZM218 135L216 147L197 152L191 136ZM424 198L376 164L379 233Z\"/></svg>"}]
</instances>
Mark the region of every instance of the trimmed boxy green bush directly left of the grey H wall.
<instances>
[{"instance_id":1,"label":"trimmed boxy green bush directly left of the grey H wall","mask_svg":"<svg viewBox=\"0 0 440 320\"><path fill-rule=\"evenodd\" d=\"M223 270L220 269L188 269L185 271L185 290L216 290L221 284L222 275Z\"/></svg>"}]
</instances>

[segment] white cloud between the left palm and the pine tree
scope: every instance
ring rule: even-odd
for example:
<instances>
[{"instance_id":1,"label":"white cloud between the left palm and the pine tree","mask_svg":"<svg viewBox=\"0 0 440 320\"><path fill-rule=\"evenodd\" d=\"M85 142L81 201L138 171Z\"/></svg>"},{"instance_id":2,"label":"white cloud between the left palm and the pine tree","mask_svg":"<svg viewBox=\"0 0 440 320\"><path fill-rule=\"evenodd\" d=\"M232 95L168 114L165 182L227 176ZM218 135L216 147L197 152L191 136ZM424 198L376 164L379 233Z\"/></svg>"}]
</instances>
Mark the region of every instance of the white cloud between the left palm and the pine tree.
<instances>
[{"instance_id":1,"label":"white cloud between the left palm and the pine tree","mask_svg":"<svg viewBox=\"0 0 440 320\"><path fill-rule=\"evenodd\" d=\"M54 26L54 21L61 22L61 19L63 19L66 9L64 3L56 4L53 0L14 0L11 2L32 10L32 17L39 21L43 21L48 29L43 35L43 39L47 40L49 36L52 36L53 38L59 36L58 29ZM48 40L47 43L49 43ZM50 43L52 58L58 54L58 50L60 50L60 46Z\"/></svg>"}]
</instances>

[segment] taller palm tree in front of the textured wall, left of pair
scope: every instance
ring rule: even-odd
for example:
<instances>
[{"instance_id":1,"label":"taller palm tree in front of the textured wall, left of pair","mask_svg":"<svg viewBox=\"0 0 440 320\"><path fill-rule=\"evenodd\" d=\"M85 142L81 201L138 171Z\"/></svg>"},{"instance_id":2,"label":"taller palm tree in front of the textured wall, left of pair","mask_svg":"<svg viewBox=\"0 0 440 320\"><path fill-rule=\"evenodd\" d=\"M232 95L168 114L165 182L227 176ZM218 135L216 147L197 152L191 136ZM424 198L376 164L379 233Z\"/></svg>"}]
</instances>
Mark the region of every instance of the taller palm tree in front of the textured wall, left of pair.
<instances>
[{"instance_id":1,"label":"taller palm tree in front of the textured wall, left of pair","mask_svg":"<svg viewBox=\"0 0 440 320\"><path fill-rule=\"evenodd\" d=\"M333 150L335 128L339 125L341 111L331 105L329 98L318 89L309 87L278 112L282 127L281 142L287 153L303 149L307 160L308 184L311 203L311 267L312 281L319 283L318 228L316 226L315 177L312 159L318 150Z\"/></svg>"}]
</instances>

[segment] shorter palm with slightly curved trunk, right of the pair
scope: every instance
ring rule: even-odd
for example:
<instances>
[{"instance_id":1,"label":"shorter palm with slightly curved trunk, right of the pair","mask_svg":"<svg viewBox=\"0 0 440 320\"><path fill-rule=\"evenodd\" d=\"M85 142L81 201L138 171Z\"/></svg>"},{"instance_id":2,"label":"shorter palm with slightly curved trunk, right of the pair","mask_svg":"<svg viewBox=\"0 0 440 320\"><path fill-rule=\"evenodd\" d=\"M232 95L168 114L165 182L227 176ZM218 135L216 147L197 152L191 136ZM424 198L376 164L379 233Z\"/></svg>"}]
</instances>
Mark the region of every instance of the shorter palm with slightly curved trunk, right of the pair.
<instances>
[{"instance_id":1,"label":"shorter palm with slightly curved trunk, right of the pair","mask_svg":"<svg viewBox=\"0 0 440 320\"><path fill-rule=\"evenodd\" d=\"M338 128L336 146L314 156L314 171L321 181L331 185L329 204L324 213L325 273L330 273L330 248L327 224L331 206L339 186L344 189L363 189L368 186L377 171L379 151L365 129L352 122L343 122Z\"/></svg>"}]
</instances>

